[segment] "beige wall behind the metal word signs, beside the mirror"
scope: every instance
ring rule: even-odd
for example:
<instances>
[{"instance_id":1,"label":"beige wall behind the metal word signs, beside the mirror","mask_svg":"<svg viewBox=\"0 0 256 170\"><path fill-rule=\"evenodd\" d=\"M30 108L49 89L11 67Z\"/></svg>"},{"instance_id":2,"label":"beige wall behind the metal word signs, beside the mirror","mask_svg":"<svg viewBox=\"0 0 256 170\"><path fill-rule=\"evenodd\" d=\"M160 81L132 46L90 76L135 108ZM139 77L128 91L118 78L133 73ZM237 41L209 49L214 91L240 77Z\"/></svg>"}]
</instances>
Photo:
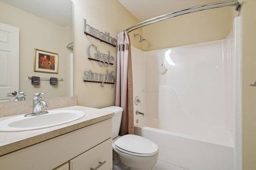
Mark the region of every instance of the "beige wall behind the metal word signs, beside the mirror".
<instances>
[{"instance_id":1,"label":"beige wall behind the metal word signs, beside the mirror","mask_svg":"<svg viewBox=\"0 0 256 170\"><path fill-rule=\"evenodd\" d=\"M116 76L116 48L84 34L84 20L90 26L102 32L110 33L117 39L122 30L138 23L138 20L128 12L117 0L74 0L74 95L78 96L78 105L88 107L106 107L115 105L116 88L111 84L101 87L100 83L83 82L84 72L106 74L106 70L114 71ZM140 32L141 33L141 32ZM138 38L138 37L137 37ZM131 41L137 48L141 44ZM136 39L138 40L138 39ZM94 44L104 54L115 58L114 65L99 66L98 62L88 60L88 46Z\"/></svg>"}]
</instances>

